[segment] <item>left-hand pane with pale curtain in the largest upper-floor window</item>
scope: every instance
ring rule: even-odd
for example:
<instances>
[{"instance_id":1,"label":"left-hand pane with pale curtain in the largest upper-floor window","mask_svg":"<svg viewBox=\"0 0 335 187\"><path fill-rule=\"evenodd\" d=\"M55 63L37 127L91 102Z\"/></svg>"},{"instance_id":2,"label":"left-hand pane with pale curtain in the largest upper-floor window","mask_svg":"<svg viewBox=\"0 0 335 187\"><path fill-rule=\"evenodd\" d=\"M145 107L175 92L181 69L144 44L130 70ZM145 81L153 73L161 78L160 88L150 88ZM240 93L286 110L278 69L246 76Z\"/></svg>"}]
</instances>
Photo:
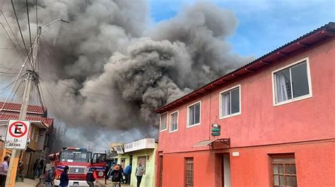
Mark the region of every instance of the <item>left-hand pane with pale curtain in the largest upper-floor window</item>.
<instances>
[{"instance_id":1,"label":"left-hand pane with pale curtain in the largest upper-floor window","mask_svg":"<svg viewBox=\"0 0 335 187\"><path fill-rule=\"evenodd\" d=\"M276 75L276 92L277 102L283 102L287 99L292 99L290 89L290 69L286 68L283 71L279 71Z\"/></svg>"}]
</instances>

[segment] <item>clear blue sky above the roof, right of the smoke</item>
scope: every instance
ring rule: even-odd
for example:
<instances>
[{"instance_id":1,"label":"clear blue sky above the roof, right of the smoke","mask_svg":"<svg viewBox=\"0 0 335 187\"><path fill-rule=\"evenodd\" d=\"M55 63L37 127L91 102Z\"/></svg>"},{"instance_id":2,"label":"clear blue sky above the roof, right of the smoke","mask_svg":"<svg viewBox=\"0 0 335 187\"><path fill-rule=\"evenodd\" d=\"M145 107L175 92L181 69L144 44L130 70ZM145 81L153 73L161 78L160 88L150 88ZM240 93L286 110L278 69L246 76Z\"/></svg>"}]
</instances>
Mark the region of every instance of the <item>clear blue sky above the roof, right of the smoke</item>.
<instances>
[{"instance_id":1,"label":"clear blue sky above the roof, right of the smoke","mask_svg":"<svg viewBox=\"0 0 335 187\"><path fill-rule=\"evenodd\" d=\"M205 0L202 0L205 1ZM207 0L208 2L211 0ZM153 24L168 20L194 0L150 0ZM206 2L206 1L205 1ZM335 0L216 0L239 20L228 37L233 52L260 57L307 32L335 21Z\"/></svg>"}]
</instances>

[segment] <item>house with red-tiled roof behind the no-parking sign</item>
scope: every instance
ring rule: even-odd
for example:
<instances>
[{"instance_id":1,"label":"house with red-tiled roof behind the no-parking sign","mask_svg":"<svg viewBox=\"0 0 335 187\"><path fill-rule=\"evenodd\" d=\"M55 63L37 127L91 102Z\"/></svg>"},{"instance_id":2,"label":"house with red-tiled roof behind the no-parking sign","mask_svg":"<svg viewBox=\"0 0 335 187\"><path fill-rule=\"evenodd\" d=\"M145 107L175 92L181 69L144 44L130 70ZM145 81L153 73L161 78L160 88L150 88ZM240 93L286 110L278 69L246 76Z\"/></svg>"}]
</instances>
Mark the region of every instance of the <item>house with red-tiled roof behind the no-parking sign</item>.
<instances>
[{"instance_id":1,"label":"house with red-tiled roof behind the no-parking sign","mask_svg":"<svg viewBox=\"0 0 335 187\"><path fill-rule=\"evenodd\" d=\"M0 102L0 139L3 143L9 119L18 119L21 104ZM25 163L25 176L33 175L33 164L36 159L45 159L52 147L52 133L54 130L54 119L47 118L47 109L41 106L29 105L26 120L31 121L28 134L28 146L20 152L20 159ZM1 143L0 143L1 145ZM0 147L1 160L11 154L11 150Z\"/></svg>"}]
</instances>

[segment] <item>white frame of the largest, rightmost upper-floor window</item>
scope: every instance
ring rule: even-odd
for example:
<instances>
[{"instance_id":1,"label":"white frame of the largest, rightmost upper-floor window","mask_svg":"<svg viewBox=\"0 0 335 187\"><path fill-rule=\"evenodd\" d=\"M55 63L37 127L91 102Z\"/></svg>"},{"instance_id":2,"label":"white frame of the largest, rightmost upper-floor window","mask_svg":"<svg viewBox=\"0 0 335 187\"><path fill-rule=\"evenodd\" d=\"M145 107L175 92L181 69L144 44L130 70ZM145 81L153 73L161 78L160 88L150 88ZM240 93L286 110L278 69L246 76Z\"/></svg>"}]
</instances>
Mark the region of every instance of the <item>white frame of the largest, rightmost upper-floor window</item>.
<instances>
[{"instance_id":1,"label":"white frame of the largest, rightmost upper-floor window","mask_svg":"<svg viewBox=\"0 0 335 187\"><path fill-rule=\"evenodd\" d=\"M306 68L307 68L307 81L308 81L308 89L309 89L309 92L310 94L308 95L302 95L300 97L295 97L293 98L293 92L292 92L292 99L287 99L286 101L283 101L283 102L276 102L276 98L277 98L277 90L276 90L276 83L275 83L275 78L274 78L274 74L277 73L278 71L282 71L283 69L286 69L286 68L290 68L292 66L295 66L297 64L300 64L302 62L306 61ZM291 89L293 89L292 87L292 80L290 80L290 85L291 85ZM296 101L300 101L302 99L307 99L307 98L310 98L312 97L313 94L312 94L312 81L311 81L311 78L310 78L310 58L309 57L306 57L304 59L300 59L298 61L295 61L291 64L288 64L287 66L283 66L281 68L278 68L276 69L275 71L272 71L272 100L273 100L273 104L274 104L274 107L276 106L280 106L282 104L288 104L290 102L296 102Z\"/></svg>"}]
</instances>

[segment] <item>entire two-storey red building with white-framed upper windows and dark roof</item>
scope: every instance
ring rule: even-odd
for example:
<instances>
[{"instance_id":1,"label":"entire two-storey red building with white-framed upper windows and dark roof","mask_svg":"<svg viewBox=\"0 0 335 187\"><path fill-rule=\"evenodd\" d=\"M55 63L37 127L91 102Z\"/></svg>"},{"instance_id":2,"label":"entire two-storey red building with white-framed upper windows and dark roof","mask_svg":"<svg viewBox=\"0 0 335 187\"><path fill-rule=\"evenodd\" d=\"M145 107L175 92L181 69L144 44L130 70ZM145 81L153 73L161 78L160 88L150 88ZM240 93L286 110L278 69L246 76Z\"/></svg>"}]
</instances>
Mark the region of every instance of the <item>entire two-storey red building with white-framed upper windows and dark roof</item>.
<instances>
[{"instance_id":1,"label":"entire two-storey red building with white-framed upper windows and dark roof","mask_svg":"<svg viewBox=\"0 0 335 187\"><path fill-rule=\"evenodd\" d=\"M160 107L156 186L335 186L334 85L329 23Z\"/></svg>"}]
</instances>

